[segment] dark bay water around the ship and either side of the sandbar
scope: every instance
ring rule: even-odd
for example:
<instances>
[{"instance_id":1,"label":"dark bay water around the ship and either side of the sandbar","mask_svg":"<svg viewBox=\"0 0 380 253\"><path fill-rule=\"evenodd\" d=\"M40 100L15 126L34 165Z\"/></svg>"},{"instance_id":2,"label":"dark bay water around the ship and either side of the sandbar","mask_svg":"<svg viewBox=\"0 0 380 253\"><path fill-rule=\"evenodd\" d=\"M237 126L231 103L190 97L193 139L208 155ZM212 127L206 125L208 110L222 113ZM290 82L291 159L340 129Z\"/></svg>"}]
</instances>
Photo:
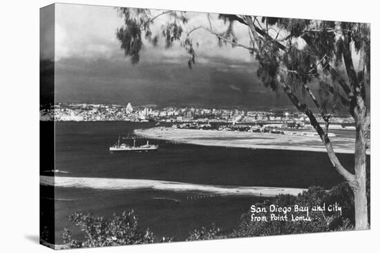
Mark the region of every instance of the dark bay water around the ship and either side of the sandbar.
<instances>
[{"instance_id":1,"label":"dark bay water around the ship and either side of the sandbar","mask_svg":"<svg viewBox=\"0 0 380 253\"><path fill-rule=\"evenodd\" d=\"M160 145L157 152L108 152L118 135L127 136L134 129L154 126L154 123L117 121L57 122L55 169L67 172L61 176L150 179L231 188L308 188L311 185L332 188L343 181L327 154L320 152L207 147L153 139L149 143ZM351 132L337 134L352 136ZM122 141L132 143L132 140ZM136 144L145 142L146 139L137 139ZM354 155L338 156L343 166L352 171ZM56 243L61 243L64 227L72 230L75 237L82 236L68 221L68 215L73 212L111 216L133 209L141 228L149 227L158 237L175 236L183 240L191 230L212 223L222 232L233 230L241 214L258 200L252 196L202 192L88 188L57 188L55 199Z\"/></svg>"}]
</instances>

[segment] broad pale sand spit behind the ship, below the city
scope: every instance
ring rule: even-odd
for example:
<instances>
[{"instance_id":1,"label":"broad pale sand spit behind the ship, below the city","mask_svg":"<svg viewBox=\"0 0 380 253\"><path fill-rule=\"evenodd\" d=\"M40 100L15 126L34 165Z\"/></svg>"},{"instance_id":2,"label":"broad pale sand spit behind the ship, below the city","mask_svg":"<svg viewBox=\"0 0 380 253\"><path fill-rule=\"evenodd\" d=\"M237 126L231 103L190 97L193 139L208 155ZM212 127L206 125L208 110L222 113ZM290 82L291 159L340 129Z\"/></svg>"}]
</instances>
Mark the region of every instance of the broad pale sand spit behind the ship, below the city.
<instances>
[{"instance_id":1,"label":"broad pale sand spit behind the ship, below the city","mask_svg":"<svg viewBox=\"0 0 380 253\"><path fill-rule=\"evenodd\" d=\"M177 128L149 128L134 132L149 139L162 139L196 145L222 146L230 148L252 148L272 150L301 150L326 152L318 136L294 136L258 132L231 132L218 130L191 130ZM354 154L355 140L341 136L330 137L336 153ZM370 154L370 150L367 150Z\"/></svg>"}]
</instances>

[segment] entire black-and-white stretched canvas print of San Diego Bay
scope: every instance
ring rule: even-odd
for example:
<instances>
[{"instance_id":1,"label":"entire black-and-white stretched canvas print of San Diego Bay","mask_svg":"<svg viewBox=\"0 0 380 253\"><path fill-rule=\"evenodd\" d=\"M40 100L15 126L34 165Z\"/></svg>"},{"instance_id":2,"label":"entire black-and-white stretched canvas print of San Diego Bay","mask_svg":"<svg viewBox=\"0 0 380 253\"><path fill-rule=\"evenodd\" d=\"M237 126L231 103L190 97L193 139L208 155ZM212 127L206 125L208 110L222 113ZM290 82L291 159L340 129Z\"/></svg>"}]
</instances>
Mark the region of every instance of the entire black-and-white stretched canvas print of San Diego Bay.
<instances>
[{"instance_id":1,"label":"entire black-and-white stretched canvas print of San Diego Bay","mask_svg":"<svg viewBox=\"0 0 380 253\"><path fill-rule=\"evenodd\" d=\"M370 24L41 8L40 242L370 228Z\"/></svg>"}]
</instances>

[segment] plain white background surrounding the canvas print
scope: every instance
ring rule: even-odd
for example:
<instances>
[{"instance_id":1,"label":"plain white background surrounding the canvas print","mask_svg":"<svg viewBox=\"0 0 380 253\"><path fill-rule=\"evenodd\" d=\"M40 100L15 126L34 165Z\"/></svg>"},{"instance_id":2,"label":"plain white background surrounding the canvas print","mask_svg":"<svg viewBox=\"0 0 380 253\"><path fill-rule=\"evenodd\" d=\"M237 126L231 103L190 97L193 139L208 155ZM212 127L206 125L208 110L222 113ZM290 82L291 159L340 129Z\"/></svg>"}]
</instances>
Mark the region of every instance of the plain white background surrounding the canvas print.
<instances>
[{"instance_id":1,"label":"plain white background surrounding the canvas print","mask_svg":"<svg viewBox=\"0 0 380 253\"><path fill-rule=\"evenodd\" d=\"M108 6L255 14L371 23L370 231L84 249L75 252L374 252L379 249L379 6L376 1L77 0ZM39 233L39 8L53 1L2 1L0 30L0 251L48 252ZM370 248L372 247L372 250ZM71 252L68 250L67 252Z\"/></svg>"}]
</instances>

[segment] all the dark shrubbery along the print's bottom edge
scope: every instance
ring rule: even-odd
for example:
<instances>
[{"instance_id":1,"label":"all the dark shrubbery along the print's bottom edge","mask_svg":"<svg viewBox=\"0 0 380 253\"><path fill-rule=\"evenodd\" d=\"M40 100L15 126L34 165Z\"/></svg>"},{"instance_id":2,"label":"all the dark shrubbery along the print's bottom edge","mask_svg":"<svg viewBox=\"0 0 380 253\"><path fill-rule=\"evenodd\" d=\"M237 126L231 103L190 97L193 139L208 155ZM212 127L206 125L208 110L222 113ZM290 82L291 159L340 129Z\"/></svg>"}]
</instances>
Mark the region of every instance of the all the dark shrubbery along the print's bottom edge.
<instances>
[{"instance_id":1,"label":"all the dark shrubbery along the print's bottom edge","mask_svg":"<svg viewBox=\"0 0 380 253\"><path fill-rule=\"evenodd\" d=\"M369 179L368 179L369 180ZM368 182L369 185L369 182ZM369 190L369 189L368 189ZM368 192L368 209L370 209L370 192ZM219 227L201 227L189 232L186 241L202 241L248 236L271 236L278 234L299 234L311 232L346 231L354 229L354 195L348 183L340 183L331 190L312 186L298 196L280 194L271 199L263 199L255 203L256 207L268 207L271 204L279 207L286 206L322 206L339 203L342 215L339 213L310 211L312 221L251 221L251 213L247 212L240 217L240 224L231 233L222 233ZM299 215L292 210L290 217ZM157 240L149 229L138 230L137 216L133 210L121 215L113 214L110 219L74 213L69 216L70 221L79 226L84 232L84 240L73 239L69 230L64 230L64 244L68 248L101 247L113 245L129 245L141 243L169 243L176 241L173 237L162 237ZM290 218L289 218L290 219Z\"/></svg>"}]
</instances>

